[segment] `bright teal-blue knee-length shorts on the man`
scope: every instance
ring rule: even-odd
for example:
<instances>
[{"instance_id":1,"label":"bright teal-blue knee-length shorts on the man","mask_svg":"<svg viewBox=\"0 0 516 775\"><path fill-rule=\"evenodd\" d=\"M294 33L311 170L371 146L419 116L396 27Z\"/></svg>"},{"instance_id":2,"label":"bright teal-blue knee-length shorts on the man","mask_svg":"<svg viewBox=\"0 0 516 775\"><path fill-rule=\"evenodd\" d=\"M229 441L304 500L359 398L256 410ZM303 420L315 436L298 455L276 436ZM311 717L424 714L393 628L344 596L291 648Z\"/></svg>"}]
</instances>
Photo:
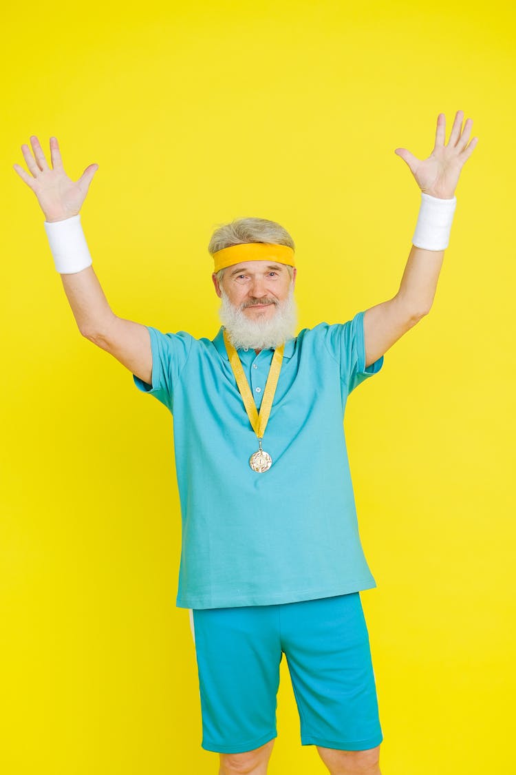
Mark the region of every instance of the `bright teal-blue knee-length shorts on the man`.
<instances>
[{"instance_id":1,"label":"bright teal-blue knee-length shorts on the man","mask_svg":"<svg viewBox=\"0 0 516 775\"><path fill-rule=\"evenodd\" d=\"M359 592L281 605L194 609L202 747L243 753L275 738L285 654L303 746L364 750L383 740Z\"/></svg>"}]
</instances>

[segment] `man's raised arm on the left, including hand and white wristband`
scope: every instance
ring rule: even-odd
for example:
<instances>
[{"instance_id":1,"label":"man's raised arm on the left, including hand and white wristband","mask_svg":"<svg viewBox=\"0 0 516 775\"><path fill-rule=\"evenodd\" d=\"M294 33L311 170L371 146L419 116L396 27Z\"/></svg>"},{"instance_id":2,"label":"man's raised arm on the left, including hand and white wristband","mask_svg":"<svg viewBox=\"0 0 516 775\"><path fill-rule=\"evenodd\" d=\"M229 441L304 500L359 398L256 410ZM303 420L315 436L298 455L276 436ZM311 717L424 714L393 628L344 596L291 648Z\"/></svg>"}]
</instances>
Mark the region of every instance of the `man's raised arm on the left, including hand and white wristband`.
<instances>
[{"instance_id":1,"label":"man's raised arm on the left, including hand and white wristband","mask_svg":"<svg viewBox=\"0 0 516 775\"><path fill-rule=\"evenodd\" d=\"M29 146L22 145L30 174L19 164L13 167L34 191L45 214L45 229L56 270L60 273L80 333L111 353L132 374L151 384L149 332L145 325L119 318L111 310L91 265L80 225L80 208L98 165L90 164L79 180L73 182L63 169L56 137L50 138L52 167L49 167L37 137L32 136L30 141L33 157Z\"/></svg>"}]
</instances>

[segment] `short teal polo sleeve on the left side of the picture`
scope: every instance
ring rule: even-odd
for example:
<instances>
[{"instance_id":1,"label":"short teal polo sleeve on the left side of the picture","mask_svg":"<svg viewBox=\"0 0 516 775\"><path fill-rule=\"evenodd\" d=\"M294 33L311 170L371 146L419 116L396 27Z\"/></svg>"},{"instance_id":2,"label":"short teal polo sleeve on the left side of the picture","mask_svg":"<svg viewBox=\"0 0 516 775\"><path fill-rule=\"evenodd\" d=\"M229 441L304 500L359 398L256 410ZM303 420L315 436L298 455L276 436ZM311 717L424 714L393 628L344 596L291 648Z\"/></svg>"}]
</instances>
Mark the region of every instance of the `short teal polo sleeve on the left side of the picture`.
<instances>
[{"instance_id":1,"label":"short teal polo sleeve on the left side of the picture","mask_svg":"<svg viewBox=\"0 0 516 775\"><path fill-rule=\"evenodd\" d=\"M190 354L193 336L184 331L164 334L152 325L146 325L145 328L151 338L152 384L144 382L135 374L132 378L138 390L155 396L172 412L174 387Z\"/></svg>"}]
</instances>

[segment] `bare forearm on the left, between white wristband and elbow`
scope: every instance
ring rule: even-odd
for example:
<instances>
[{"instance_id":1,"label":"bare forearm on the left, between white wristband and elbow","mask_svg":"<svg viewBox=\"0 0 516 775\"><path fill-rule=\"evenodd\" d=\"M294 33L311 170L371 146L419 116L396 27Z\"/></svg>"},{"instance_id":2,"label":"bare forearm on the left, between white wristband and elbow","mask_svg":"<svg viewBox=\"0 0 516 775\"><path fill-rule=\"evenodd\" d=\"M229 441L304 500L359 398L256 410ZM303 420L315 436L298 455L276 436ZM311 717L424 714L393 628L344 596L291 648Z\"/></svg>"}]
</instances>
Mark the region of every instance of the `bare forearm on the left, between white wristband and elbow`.
<instances>
[{"instance_id":1,"label":"bare forearm on the left, between white wristband and elbow","mask_svg":"<svg viewBox=\"0 0 516 775\"><path fill-rule=\"evenodd\" d=\"M116 318L104 295L93 267L61 274L64 292L83 336L94 339L105 332Z\"/></svg>"}]
</instances>

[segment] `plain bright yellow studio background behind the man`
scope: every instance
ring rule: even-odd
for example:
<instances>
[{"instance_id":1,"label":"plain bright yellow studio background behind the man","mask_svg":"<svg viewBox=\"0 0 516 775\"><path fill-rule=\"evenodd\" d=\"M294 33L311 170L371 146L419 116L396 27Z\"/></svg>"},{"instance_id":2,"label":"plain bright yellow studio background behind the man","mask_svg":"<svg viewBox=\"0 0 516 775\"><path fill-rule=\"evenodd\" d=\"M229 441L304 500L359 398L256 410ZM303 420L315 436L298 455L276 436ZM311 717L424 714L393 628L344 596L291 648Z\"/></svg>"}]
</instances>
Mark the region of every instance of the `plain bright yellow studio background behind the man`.
<instances>
[{"instance_id":1,"label":"plain bright yellow studio background behind the man","mask_svg":"<svg viewBox=\"0 0 516 775\"><path fill-rule=\"evenodd\" d=\"M383 775L514 755L514 10L490 2L129 2L4 9L0 174L0 769L215 773L175 607L172 419L81 338L12 164L60 140L118 315L214 336L207 243L233 218L296 241L299 325L398 290L456 110L480 140L430 314L350 398ZM285 483L288 487L288 483ZM324 773L286 669L269 772Z\"/></svg>"}]
</instances>

